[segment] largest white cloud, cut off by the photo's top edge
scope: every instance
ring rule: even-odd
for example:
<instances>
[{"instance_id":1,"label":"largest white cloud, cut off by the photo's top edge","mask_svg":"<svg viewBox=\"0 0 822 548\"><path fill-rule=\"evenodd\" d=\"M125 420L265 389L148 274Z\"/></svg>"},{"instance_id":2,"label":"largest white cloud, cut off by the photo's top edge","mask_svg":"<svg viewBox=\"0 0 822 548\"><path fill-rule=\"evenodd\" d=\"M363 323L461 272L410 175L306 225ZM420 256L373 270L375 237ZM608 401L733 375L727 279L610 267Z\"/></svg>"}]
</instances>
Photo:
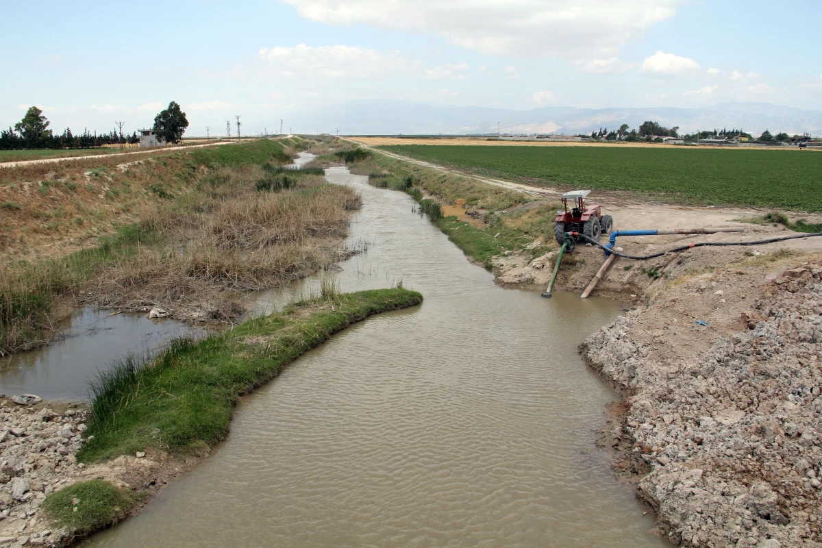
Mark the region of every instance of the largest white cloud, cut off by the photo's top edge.
<instances>
[{"instance_id":1,"label":"largest white cloud, cut off by the photo's top edge","mask_svg":"<svg viewBox=\"0 0 822 548\"><path fill-rule=\"evenodd\" d=\"M673 16L681 0L285 0L330 25L430 32L495 55L605 57Z\"/></svg>"}]
</instances>

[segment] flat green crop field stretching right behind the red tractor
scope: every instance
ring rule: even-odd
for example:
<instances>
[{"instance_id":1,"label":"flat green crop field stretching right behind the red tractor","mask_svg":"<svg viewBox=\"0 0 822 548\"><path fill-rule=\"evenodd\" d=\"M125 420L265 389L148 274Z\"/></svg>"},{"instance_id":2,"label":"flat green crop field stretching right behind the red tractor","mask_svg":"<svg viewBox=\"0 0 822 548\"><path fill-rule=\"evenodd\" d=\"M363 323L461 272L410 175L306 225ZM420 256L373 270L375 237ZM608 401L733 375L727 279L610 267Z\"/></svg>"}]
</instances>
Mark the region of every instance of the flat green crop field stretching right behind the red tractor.
<instances>
[{"instance_id":1,"label":"flat green crop field stretching right behind the red tractor","mask_svg":"<svg viewBox=\"0 0 822 548\"><path fill-rule=\"evenodd\" d=\"M393 145L395 154L562 190L822 211L822 153L677 147Z\"/></svg>"}]
</instances>

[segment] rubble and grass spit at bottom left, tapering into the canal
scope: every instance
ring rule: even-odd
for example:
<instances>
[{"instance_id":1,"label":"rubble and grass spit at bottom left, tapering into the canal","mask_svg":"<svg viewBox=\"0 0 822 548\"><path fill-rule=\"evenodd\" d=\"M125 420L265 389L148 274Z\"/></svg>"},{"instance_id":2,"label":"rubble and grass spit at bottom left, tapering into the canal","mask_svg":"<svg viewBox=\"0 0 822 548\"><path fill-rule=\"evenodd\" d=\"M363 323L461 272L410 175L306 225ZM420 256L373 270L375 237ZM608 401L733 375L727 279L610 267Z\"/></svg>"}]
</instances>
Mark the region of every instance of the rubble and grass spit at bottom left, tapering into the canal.
<instances>
[{"instance_id":1,"label":"rubble and grass spit at bottom left, tapering into the canal","mask_svg":"<svg viewBox=\"0 0 822 548\"><path fill-rule=\"evenodd\" d=\"M0 543L68 546L138 512L210 454L243 394L349 325L422 300L404 288L324 288L224 334L122 361L99 377L90 409L0 400Z\"/></svg>"}]
</instances>

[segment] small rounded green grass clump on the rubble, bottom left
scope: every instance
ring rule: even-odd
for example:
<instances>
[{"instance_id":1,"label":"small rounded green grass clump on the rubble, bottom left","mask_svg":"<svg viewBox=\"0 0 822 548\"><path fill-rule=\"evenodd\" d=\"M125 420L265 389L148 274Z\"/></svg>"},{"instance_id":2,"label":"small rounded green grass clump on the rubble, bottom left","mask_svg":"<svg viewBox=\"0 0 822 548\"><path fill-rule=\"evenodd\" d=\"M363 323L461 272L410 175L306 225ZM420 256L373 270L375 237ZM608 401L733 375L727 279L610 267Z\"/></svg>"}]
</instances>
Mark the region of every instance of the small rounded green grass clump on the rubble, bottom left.
<instances>
[{"instance_id":1,"label":"small rounded green grass clump on the rubble, bottom left","mask_svg":"<svg viewBox=\"0 0 822 548\"><path fill-rule=\"evenodd\" d=\"M109 481L90 480L48 495L43 509L59 527L66 527L77 536L86 536L118 523L140 499L141 494Z\"/></svg>"}]
</instances>

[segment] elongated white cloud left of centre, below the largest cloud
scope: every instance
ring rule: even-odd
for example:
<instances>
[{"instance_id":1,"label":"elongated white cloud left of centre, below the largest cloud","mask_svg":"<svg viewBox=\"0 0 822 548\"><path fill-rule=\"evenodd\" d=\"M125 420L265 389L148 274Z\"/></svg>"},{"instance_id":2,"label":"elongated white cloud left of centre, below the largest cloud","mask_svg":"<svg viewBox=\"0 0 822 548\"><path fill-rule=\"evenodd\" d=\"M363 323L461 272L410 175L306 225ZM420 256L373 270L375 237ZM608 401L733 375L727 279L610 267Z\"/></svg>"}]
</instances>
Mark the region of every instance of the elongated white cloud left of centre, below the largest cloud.
<instances>
[{"instance_id":1,"label":"elongated white cloud left of centre, below the largest cloud","mask_svg":"<svg viewBox=\"0 0 822 548\"><path fill-rule=\"evenodd\" d=\"M312 48L298 44L293 48L261 49L257 54L270 63L280 76L313 79L363 78L380 79L420 71L419 62L405 58L399 50L380 51L341 44Z\"/></svg>"}]
</instances>

